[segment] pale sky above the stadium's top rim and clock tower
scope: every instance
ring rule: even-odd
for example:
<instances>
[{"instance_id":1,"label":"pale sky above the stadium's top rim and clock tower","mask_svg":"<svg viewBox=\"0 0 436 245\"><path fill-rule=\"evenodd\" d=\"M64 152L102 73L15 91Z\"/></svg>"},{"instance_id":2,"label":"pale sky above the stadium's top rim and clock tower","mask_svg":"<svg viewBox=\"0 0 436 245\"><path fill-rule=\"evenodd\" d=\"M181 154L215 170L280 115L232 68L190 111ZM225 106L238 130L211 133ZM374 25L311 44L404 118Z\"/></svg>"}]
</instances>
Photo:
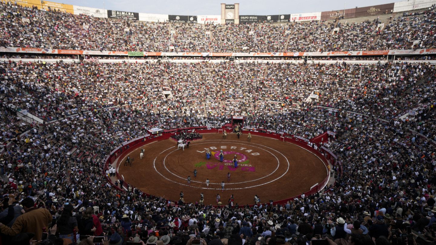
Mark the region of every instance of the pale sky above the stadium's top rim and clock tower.
<instances>
[{"instance_id":1,"label":"pale sky above the stadium's top rim and clock tower","mask_svg":"<svg viewBox=\"0 0 436 245\"><path fill-rule=\"evenodd\" d=\"M366 7L398 2L395 0L51 0L84 7L147 14L219 15L220 4L239 3L241 15L298 14Z\"/></svg>"}]
</instances>

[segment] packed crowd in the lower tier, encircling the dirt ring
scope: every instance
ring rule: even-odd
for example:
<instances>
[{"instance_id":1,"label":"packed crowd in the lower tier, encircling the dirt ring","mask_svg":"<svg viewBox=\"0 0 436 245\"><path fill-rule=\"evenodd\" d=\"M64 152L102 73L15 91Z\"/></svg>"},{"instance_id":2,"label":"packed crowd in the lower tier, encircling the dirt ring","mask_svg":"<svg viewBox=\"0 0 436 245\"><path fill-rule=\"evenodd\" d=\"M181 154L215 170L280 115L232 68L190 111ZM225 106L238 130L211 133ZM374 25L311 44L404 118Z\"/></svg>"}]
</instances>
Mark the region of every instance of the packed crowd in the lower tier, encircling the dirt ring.
<instances>
[{"instance_id":1,"label":"packed crowd in the lower tier, encircling the dirt ring","mask_svg":"<svg viewBox=\"0 0 436 245\"><path fill-rule=\"evenodd\" d=\"M0 68L2 140L13 142L2 154L3 193L26 205L32 202L25 197L33 197L37 208L48 209L46 216L57 218L63 228L50 231L53 244L74 240L75 225L80 235L105 231L111 244L129 237L185 244L196 229L208 244L216 238L227 239L220 240L224 244L305 244L315 234L329 234L337 244L371 244L371 238L394 244L407 225L418 244L433 241L433 65L5 62ZM311 94L318 100L307 100ZM17 108L58 121L32 127L17 120ZM400 118L409 109L416 115ZM335 186L286 205L175 207L129 185L117 191L102 174L113 146L146 129L220 127L235 113L246 116L246 127L308 139L335 132L324 145L343 167L335 168ZM65 213L72 222L59 222ZM24 236L0 229L3 239ZM42 229L32 231L39 240Z\"/></svg>"}]
</instances>

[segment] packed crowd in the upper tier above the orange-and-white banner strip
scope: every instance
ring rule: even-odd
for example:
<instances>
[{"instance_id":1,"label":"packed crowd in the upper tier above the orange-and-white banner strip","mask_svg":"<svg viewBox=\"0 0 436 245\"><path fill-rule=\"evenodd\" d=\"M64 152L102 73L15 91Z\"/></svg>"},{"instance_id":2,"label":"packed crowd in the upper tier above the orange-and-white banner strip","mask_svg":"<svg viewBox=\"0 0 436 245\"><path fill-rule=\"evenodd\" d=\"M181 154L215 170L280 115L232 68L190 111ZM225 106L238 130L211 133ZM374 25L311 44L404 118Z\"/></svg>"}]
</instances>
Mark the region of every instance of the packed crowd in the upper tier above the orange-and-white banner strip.
<instances>
[{"instance_id":1,"label":"packed crowd in the upper tier above the orange-and-white banner strip","mask_svg":"<svg viewBox=\"0 0 436 245\"><path fill-rule=\"evenodd\" d=\"M98 51L282 52L435 48L435 9L397 14L384 23L183 24L73 15L0 3L0 45ZM28 19L29 23L23 21ZM334 32L335 28L339 31Z\"/></svg>"}]
</instances>

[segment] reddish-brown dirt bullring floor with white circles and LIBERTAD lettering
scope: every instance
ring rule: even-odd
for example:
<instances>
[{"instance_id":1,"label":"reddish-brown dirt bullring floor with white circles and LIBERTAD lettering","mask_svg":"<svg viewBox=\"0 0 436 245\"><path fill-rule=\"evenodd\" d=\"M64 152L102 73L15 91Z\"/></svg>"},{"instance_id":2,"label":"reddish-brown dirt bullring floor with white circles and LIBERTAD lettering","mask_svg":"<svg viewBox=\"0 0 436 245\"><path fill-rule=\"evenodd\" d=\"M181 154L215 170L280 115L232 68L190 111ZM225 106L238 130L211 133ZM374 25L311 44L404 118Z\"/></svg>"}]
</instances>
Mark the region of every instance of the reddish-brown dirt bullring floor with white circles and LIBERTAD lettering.
<instances>
[{"instance_id":1,"label":"reddish-brown dirt bullring floor with white circles and LIBERTAD lettering","mask_svg":"<svg viewBox=\"0 0 436 245\"><path fill-rule=\"evenodd\" d=\"M224 204L227 204L226 197L232 194L235 204L239 205L254 204L255 195L263 202L283 203L307 191L323 189L329 180L327 160L305 143L287 137L277 139L279 135L255 135L256 132L250 132L253 136L248 142L248 132L240 139L234 133L223 139L218 129L201 131L217 133L202 132L203 138L193 140L184 150L177 150L175 140L165 139L171 134L158 137L160 139L140 140L119 155L113 165L126 183L146 194L177 202L183 191L185 202L195 203L200 193L204 193L204 204L213 205L216 205L217 194L222 196ZM206 160L205 148L211 150L210 160ZM145 150L142 160L141 149ZM225 154L222 163L218 158L220 150ZM232 163L235 154L240 160L236 168ZM127 156L134 158L131 167L124 165ZM193 175L194 169L198 171L197 177ZM229 182L228 173L231 174ZM192 179L190 185L188 176ZM209 187L206 179L210 180ZM221 181L225 182L224 193Z\"/></svg>"}]
</instances>

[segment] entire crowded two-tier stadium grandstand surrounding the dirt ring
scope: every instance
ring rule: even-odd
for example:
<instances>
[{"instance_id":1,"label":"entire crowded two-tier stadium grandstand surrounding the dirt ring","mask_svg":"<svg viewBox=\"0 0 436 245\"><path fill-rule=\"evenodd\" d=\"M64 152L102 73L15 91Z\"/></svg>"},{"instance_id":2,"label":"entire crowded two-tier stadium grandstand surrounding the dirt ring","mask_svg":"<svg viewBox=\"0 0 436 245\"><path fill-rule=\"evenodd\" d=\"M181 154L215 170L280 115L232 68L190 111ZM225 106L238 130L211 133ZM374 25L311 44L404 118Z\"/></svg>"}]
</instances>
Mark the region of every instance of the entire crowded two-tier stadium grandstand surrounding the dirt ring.
<instances>
[{"instance_id":1,"label":"entire crowded two-tier stadium grandstand surrounding the dirt ring","mask_svg":"<svg viewBox=\"0 0 436 245\"><path fill-rule=\"evenodd\" d=\"M1 244L436 243L435 1L249 23L32 1L0 3ZM284 202L185 203L108 162L164 134L150 129L235 115L328 152L329 183Z\"/></svg>"}]
</instances>

